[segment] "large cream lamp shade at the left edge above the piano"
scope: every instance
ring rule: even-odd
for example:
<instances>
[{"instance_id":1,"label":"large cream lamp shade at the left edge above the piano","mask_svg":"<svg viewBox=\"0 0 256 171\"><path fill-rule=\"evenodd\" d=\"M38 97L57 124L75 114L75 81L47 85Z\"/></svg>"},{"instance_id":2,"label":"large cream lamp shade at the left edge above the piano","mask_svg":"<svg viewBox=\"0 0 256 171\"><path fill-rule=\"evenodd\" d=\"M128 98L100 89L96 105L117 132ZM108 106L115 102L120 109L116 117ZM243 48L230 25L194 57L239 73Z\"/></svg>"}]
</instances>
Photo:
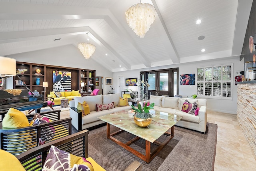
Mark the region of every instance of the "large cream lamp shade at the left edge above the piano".
<instances>
[{"instance_id":1,"label":"large cream lamp shade at the left edge above the piano","mask_svg":"<svg viewBox=\"0 0 256 171\"><path fill-rule=\"evenodd\" d=\"M0 56L0 77L16 76L16 60Z\"/></svg>"}]
</instances>

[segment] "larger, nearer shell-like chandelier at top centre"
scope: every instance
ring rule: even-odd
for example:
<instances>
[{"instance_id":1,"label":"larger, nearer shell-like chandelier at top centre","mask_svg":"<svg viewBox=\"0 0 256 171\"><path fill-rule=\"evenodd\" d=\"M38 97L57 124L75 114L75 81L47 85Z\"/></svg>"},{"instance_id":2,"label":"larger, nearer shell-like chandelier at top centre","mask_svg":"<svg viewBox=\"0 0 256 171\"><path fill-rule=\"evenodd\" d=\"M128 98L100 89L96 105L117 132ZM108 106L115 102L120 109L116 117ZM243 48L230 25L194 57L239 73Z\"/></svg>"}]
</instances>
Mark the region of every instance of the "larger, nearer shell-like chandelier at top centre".
<instances>
[{"instance_id":1,"label":"larger, nearer shell-like chandelier at top centre","mask_svg":"<svg viewBox=\"0 0 256 171\"><path fill-rule=\"evenodd\" d=\"M148 32L151 24L156 19L156 9L148 3L135 4L131 6L126 12L126 21L135 34L144 38Z\"/></svg>"}]
</instances>

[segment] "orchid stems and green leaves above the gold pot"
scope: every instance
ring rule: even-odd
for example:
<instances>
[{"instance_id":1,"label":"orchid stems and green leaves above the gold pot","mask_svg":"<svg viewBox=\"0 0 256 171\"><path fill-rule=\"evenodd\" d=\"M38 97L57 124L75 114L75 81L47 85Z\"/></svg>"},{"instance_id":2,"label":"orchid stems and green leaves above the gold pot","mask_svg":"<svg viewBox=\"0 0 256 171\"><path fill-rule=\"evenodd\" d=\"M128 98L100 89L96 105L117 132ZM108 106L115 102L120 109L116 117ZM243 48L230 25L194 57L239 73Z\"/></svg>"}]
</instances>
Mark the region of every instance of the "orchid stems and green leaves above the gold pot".
<instances>
[{"instance_id":1,"label":"orchid stems and green leaves above the gold pot","mask_svg":"<svg viewBox=\"0 0 256 171\"><path fill-rule=\"evenodd\" d=\"M132 105L132 109L135 111L134 116L136 115L136 117L142 119L152 118L152 115L149 113L149 110L154 109L155 103L151 103L147 106L148 87L150 87L150 85L148 84L147 81L145 82L144 80L138 80L136 84L140 89L140 101L142 102L142 105L139 103L138 108Z\"/></svg>"}]
</instances>

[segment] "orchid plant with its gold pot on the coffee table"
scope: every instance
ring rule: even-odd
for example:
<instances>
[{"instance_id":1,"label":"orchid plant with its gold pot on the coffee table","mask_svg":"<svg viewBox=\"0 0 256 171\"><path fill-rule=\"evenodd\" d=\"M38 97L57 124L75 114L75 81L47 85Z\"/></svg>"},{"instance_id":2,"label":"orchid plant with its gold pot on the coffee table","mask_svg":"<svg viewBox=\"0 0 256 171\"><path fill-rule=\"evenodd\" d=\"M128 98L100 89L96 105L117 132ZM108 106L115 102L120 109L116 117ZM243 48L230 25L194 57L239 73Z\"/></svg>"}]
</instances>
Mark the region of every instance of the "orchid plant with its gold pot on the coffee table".
<instances>
[{"instance_id":1,"label":"orchid plant with its gold pot on the coffee table","mask_svg":"<svg viewBox=\"0 0 256 171\"><path fill-rule=\"evenodd\" d=\"M152 115L150 113L150 109L154 109L155 103L151 103L147 105L148 98L148 87L150 86L148 82L138 81L137 85L140 88L140 100L142 105L139 103L138 108L132 105L132 109L135 111L134 113L134 122L140 127L147 127L152 121ZM145 101L145 103L144 103Z\"/></svg>"}]
</instances>

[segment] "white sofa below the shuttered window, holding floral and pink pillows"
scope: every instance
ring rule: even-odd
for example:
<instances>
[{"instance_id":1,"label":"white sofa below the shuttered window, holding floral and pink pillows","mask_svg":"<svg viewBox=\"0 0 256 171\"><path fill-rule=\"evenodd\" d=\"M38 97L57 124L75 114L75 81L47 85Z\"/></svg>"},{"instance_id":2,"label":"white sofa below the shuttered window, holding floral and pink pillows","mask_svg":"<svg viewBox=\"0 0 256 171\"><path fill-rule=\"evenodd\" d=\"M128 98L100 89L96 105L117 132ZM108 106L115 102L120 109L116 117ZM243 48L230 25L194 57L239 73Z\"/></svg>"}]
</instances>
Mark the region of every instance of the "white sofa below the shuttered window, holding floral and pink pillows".
<instances>
[{"instance_id":1,"label":"white sofa below the shuttered window, holding floral and pink pillows","mask_svg":"<svg viewBox=\"0 0 256 171\"><path fill-rule=\"evenodd\" d=\"M182 105L186 99L190 103L194 103L195 101L197 101L197 105L200 108L198 115L191 115L189 113L181 111ZM205 133L207 122L206 99L190 99L150 95L149 102L155 103L154 110L156 111L162 111L182 116L182 119L176 123L177 126L186 127Z\"/></svg>"}]
</instances>

